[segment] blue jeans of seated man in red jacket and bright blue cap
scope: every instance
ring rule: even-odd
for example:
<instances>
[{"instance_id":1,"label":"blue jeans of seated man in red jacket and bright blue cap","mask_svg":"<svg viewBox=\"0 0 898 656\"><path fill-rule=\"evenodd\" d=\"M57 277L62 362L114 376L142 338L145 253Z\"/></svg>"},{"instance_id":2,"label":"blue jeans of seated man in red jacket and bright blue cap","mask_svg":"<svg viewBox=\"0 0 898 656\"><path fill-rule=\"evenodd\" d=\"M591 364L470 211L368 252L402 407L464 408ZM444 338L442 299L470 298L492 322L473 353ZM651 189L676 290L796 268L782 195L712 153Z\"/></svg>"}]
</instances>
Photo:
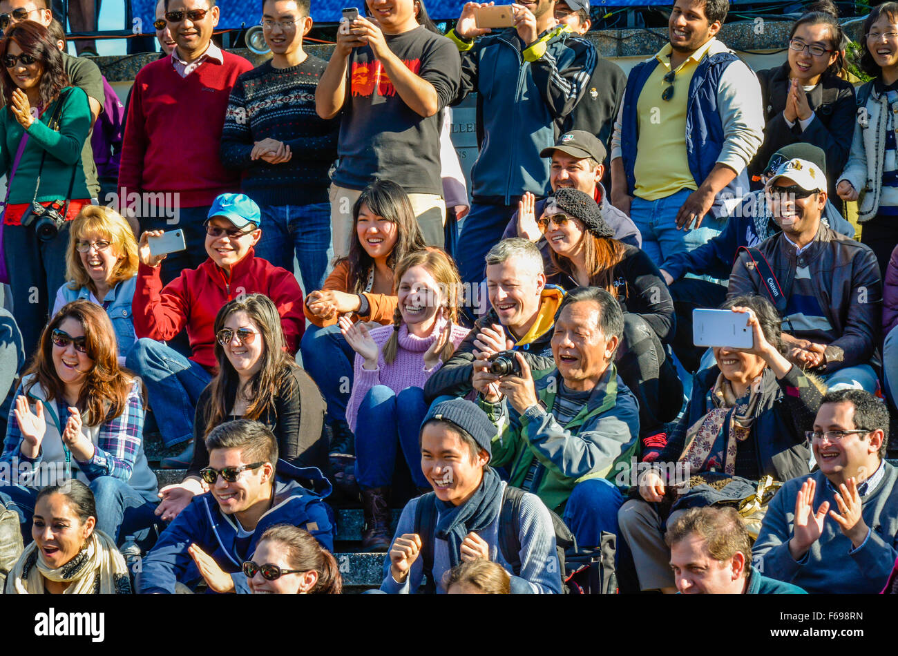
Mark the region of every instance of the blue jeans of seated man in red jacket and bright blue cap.
<instances>
[{"instance_id":1,"label":"blue jeans of seated man in red jacket and bright blue cap","mask_svg":"<svg viewBox=\"0 0 898 656\"><path fill-rule=\"evenodd\" d=\"M197 401L212 374L162 342L146 337L134 343L125 364L144 380L165 446L192 440Z\"/></svg>"}]
</instances>

